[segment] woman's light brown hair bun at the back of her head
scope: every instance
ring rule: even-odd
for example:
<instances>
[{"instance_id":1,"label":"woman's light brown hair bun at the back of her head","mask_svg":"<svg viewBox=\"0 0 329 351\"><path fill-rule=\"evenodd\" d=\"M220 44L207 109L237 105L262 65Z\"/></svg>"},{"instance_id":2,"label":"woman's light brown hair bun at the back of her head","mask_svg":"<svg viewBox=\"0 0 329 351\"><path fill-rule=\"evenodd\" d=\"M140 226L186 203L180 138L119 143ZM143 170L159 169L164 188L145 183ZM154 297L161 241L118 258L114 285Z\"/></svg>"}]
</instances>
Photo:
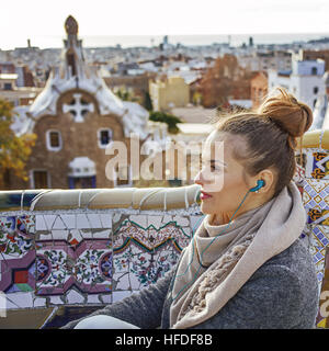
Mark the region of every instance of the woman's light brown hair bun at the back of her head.
<instances>
[{"instance_id":1,"label":"woman's light brown hair bun at the back of her head","mask_svg":"<svg viewBox=\"0 0 329 351\"><path fill-rule=\"evenodd\" d=\"M303 136L313 123L313 112L309 106L288 93L283 88L276 88L280 93L269 95L258 109L264 118L274 122L291 137Z\"/></svg>"}]
</instances>

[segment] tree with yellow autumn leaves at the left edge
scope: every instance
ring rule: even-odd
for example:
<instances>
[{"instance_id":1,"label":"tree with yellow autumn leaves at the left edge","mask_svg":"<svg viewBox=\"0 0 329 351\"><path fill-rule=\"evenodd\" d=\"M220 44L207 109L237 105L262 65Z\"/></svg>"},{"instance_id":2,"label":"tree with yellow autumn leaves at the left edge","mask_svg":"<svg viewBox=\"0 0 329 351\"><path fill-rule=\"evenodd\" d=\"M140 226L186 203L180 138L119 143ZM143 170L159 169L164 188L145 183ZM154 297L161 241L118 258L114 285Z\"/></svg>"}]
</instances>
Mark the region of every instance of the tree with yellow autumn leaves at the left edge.
<instances>
[{"instance_id":1,"label":"tree with yellow autumn leaves at the left edge","mask_svg":"<svg viewBox=\"0 0 329 351\"><path fill-rule=\"evenodd\" d=\"M8 189L10 172L27 181L25 165L35 145L36 135L16 136L11 129L13 105L0 99L0 189Z\"/></svg>"}]
</instances>

